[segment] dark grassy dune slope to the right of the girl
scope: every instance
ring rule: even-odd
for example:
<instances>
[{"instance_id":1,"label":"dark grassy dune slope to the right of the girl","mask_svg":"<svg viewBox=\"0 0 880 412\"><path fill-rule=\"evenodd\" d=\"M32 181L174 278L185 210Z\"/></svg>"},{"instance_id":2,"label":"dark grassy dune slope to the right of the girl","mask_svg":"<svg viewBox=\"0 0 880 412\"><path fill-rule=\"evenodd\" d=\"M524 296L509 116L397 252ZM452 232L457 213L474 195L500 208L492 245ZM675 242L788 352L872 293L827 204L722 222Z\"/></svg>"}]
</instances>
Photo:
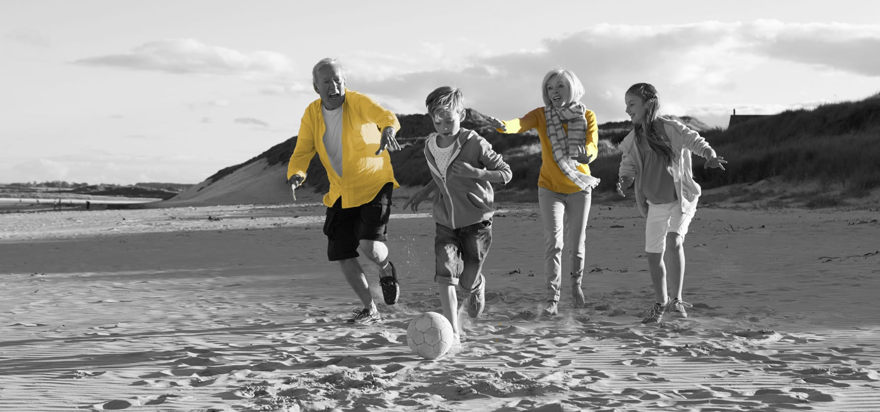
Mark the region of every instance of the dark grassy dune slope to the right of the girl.
<instances>
[{"instance_id":1,"label":"dark grassy dune slope to the right of the girl","mask_svg":"<svg viewBox=\"0 0 880 412\"><path fill-rule=\"evenodd\" d=\"M880 93L861 101L781 112L703 135L729 159L724 173L694 167L706 188L753 183L770 177L786 182L840 184L861 197L880 186Z\"/></svg>"}]
</instances>

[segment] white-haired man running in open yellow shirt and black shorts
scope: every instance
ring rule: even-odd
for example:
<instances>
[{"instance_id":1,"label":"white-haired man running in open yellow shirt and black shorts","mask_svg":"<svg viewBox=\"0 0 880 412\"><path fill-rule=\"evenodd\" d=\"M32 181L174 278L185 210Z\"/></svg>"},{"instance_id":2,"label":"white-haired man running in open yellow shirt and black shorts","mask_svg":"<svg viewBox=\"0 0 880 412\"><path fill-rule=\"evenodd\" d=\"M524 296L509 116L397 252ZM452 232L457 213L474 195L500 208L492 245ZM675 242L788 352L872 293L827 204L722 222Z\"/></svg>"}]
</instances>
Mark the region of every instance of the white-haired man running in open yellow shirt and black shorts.
<instances>
[{"instance_id":1,"label":"white-haired man running in open yellow shirt and black shorts","mask_svg":"<svg viewBox=\"0 0 880 412\"><path fill-rule=\"evenodd\" d=\"M296 193L318 153L330 181L330 191L324 195L327 258L340 263L348 285L363 302L363 309L355 310L348 322L375 323L382 316L373 303L357 249L378 266L385 303L396 304L400 284L384 242L392 190L400 184L394 180L385 149L400 149L394 139L400 122L371 98L346 89L345 72L335 59L315 64L312 86L320 98L303 114L297 148L288 164L288 182Z\"/></svg>"}]
</instances>

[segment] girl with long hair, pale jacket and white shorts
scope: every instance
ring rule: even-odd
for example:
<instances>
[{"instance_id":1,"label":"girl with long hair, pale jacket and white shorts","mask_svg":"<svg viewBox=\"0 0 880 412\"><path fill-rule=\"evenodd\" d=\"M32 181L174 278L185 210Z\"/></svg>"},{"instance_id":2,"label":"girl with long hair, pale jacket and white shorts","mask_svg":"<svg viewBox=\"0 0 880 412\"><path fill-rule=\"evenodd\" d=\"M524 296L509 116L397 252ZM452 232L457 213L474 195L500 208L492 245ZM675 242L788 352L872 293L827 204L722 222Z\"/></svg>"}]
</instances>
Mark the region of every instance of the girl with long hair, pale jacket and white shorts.
<instances>
[{"instance_id":1,"label":"girl with long hair, pale jacket and white shorts","mask_svg":"<svg viewBox=\"0 0 880 412\"><path fill-rule=\"evenodd\" d=\"M657 115L657 90L637 83L627 90L627 114L634 129L620 143L620 178L617 192L635 182L635 204L647 218L645 251L654 285L656 302L642 323L660 322L664 314L686 317L681 300L685 279L685 249L682 242L697 209L700 184L693 181L691 152L708 159L704 167L721 168L727 163L700 134L672 119ZM665 264L664 264L665 261ZM671 300L666 293L666 268L671 272Z\"/></svg>"}]
</instances>

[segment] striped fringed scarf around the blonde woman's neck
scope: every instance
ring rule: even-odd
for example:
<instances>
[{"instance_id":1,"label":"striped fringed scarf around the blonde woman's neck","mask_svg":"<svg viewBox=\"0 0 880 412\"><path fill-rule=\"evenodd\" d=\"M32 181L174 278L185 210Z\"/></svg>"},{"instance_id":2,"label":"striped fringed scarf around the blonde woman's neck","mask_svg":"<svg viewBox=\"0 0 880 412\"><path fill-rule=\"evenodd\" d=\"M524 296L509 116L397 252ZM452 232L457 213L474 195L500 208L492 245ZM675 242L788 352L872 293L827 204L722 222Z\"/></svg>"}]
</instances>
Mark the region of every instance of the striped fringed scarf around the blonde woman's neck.
<instances>
[{"instance_id":1,"label":"striped fringed scarf around the blonde woman's neck","mask_svg":"<svg viewBox=\"0 0 880 412\"><path fill-rule=\"evenodd\" d=\"M583 113L587 111L581 102L574 102L563 109L556 109L553 105L544 107L544 117L547 122L547 137L553 147L553 157L556 164L574 184L582 191L592 189L599 184L599 179L577 170L577 161L572 159L578 148L587 145L587 119ZM562 128L561 119L568 120L568 134Z\"/></svg>"}]
</instances>

